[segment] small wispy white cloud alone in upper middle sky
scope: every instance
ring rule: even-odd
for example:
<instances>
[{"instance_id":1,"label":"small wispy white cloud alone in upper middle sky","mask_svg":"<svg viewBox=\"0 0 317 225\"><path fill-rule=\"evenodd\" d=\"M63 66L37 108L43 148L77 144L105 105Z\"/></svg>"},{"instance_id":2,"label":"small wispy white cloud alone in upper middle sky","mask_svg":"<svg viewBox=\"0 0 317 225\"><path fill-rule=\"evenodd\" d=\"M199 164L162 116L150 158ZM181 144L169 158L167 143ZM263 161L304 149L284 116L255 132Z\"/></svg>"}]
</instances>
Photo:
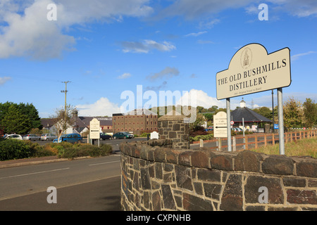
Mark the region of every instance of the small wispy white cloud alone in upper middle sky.
<instances>
[{"instance_id":1,"label":"small wispy white cloud alone in upper middle sky","mask_svg":"<svg viewBox=\"0 0 317 225\"><path fill-rule=\"evenodd\" d=\"M168 41L163 41L163 43L158 43L153 40L139 41L122 41L121 46L123 46L123 52L128 53L149 53L152 49L159 51L172 51L176 47Z\"/></svg>"}]
</instances>

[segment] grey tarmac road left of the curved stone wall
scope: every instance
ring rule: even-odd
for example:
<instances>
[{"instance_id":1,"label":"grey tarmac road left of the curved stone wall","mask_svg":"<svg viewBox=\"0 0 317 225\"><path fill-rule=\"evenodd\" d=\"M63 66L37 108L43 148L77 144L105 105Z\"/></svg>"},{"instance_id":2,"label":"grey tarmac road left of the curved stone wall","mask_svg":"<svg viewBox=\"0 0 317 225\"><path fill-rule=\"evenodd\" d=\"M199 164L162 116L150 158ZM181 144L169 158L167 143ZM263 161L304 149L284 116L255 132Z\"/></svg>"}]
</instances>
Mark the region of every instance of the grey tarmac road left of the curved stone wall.
<instances>
[{"instance_id":1,"label":"grey tarmac road left of the curved stone wall","mask_svg":"<svg viewBox=\"0 0 317 225\"><path fill-rule=\"evenodd\" d=\"M120 210L120 155L2 168L0 210Z\"/></svg>"}]
</instances>

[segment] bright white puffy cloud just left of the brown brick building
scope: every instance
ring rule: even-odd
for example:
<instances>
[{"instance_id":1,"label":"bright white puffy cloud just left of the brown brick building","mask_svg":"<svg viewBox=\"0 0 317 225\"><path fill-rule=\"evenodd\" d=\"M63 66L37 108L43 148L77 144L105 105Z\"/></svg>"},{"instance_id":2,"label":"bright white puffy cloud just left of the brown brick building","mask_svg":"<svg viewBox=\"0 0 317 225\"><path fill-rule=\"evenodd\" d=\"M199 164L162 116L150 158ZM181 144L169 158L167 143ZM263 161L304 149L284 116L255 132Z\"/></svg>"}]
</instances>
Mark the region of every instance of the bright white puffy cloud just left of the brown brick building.
<instances>
[{"instance_id":1,"label":"bright white puffy cloud just left of the brown brick building","mask_svg":"<svg viewBox=\"0 0 317 225\"><path fill-rule=\"evenodd\" d=\"M108 98L100 98L97 102L87 105L76 105L80 116L112 116L113 113L120 113L120 107L111 103Z\"/></svg>"}]
</instances>

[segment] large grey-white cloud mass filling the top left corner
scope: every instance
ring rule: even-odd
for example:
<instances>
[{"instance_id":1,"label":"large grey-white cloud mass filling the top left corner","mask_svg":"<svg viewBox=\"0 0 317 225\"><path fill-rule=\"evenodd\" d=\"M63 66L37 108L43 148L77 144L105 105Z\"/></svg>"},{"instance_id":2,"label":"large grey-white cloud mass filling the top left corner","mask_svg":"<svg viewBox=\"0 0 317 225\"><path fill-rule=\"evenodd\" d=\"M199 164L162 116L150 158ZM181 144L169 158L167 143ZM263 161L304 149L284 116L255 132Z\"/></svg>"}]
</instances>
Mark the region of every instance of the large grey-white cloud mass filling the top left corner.
<instances>
[{"instance_id":1,"label":"large grey-white cloud mass filling the top left corner","mask_svg":"<svg viewBox=\"0 0 317 225\"><path fill-rule=\"evenodd\" d=\"M60 58L63 51L74 50L75 38L64 34L70 26L118 21L125 15L140 17L153 11L147 6L149 0L15 2L0 1L0 58ZM47 20L49 4L56 4L57 20Z\"/></svg>"}]
</instances>

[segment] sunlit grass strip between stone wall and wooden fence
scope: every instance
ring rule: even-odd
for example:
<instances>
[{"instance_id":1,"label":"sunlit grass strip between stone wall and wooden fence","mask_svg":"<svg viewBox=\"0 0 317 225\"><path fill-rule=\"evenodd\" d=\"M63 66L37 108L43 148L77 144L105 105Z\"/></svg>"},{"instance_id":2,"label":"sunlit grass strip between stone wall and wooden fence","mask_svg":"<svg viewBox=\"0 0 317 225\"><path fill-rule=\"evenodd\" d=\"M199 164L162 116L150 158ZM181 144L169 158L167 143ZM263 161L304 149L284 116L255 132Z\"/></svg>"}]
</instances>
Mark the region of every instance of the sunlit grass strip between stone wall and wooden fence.
<instances>
[{"instance_id":1,"label":"sunlit grass strip between stone wall and wooden fence","mask_svg":"<svg viewBox=\"0 0 317 225\"><path fill-rule=\"evenodd\" d=\"M257 149L250 149L257 153L267 155L280 155L278 144L274 146L261 146ZM308 155L317 158L317 139L302 139L285 143L285 155L287 156L304 156Z\"/></svg>"}]
</instances>

